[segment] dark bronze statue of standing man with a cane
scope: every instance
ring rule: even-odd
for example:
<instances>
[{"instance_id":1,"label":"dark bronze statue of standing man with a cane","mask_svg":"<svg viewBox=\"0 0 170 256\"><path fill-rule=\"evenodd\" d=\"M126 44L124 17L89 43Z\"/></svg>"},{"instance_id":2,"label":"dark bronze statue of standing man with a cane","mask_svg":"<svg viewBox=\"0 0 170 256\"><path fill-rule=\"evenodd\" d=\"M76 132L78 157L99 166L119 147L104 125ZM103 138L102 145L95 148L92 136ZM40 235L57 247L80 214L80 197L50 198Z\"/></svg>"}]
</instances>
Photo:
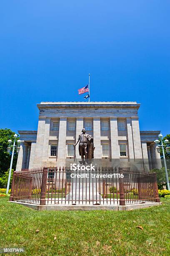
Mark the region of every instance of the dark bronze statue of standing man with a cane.
<instances>
[{"instance_id":1,"label":"dark bronze statue of standing man with a cane","mask_svg":"<svg viewBox=\"0 0 170 256\"><path fill-rule=\"evenodd\" d=\"M79 142L79 155L82 159L82 164L91 163L91 159L94 158L94 144L93 137L86 133L85 128L82 129L82 133L78 136L76 143L73 145L74 147ZM85 156L85 159L84 159Z\"/></svg>"}]
</instances>

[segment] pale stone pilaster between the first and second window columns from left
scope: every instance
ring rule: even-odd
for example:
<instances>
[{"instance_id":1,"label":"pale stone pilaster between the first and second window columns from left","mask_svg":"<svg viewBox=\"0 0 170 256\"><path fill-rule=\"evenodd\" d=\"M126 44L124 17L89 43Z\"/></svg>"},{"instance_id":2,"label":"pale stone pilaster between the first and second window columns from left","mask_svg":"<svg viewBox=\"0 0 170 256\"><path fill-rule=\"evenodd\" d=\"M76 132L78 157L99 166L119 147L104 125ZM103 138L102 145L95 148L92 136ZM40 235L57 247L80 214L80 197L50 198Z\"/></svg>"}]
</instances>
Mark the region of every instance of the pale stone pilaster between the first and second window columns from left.
<instances>
[{"instance_id":1,"label":"pale stone pilaster between the first and second window columns from left","mask_svg":"<svg viewBox=\"0 0 170 256\"><path fill-rule=\"evenodd\" d=\"M59 127L59 135L58 135L58 154L57 154L57 163L60 166L65 165L66 133L67 133L67 118L60 118L60 127Z\"/></svg>"}]
</instances>

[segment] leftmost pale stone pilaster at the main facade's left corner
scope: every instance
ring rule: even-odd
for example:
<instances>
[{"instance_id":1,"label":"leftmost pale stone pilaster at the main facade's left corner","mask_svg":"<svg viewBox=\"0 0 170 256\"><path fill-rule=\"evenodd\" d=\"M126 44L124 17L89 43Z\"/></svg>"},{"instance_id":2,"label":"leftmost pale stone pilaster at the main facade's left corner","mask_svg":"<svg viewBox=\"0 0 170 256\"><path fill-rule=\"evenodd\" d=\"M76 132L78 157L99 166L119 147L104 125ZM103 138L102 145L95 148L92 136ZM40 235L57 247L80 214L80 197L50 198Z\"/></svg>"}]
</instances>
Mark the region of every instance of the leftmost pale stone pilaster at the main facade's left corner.
<instances>
[{"instance_id":1,"label":"leftmost pale stone pilaster at the main facade's left corner","mask_svg":"<svg viewBox=\"0 0 170 256\"><path fill-rule=\"evenodd\" d=\"M42 151L44 143L44 132L45 132L45 118L39 118L38 131L37 131L37 142L35 148L34 167L42 166Z\"/></svg>"}]
</instances>

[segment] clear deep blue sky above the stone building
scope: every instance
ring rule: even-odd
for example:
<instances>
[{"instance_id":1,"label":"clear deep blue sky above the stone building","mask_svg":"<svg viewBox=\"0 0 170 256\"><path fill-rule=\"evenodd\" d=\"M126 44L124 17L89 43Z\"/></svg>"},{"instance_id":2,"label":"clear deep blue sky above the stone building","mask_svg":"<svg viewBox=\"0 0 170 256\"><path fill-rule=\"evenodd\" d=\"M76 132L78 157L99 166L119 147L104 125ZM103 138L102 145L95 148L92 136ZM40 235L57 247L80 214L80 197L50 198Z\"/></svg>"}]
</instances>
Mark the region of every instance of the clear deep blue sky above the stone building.
<instances>
[{"instance_id":1,"label":"clear deep blue sky above the stone building","mask_svg":"<svg viewBox=\"0 0 170 256\"><path fill-rule=\"evenodd\" d=\"M41 101L141 103L170 133L170 2L1 0L0 128L37 130ZM163 107L162 107L163 105Z\"/></svg>"}]
</instances>

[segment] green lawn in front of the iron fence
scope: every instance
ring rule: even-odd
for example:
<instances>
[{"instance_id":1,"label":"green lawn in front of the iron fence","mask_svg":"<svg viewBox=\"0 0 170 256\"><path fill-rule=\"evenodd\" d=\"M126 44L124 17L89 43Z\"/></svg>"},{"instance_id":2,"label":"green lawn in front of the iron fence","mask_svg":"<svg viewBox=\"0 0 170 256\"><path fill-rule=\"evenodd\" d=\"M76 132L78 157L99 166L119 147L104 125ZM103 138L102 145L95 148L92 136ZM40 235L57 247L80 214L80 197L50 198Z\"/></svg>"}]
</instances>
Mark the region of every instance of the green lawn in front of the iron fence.
<instances>
[{"instance_id":1,"label":"green lawn in front of the iron fence","mask_svg":"<svg viewBox=\"0 0 170 256\"><path fill-rule=\"evenodd\" d=\"M0 197L1 248L24 247L25 255L170 255L170 200L132 211L40 212L8 199Z\"/></svg>"}]
</instances>

